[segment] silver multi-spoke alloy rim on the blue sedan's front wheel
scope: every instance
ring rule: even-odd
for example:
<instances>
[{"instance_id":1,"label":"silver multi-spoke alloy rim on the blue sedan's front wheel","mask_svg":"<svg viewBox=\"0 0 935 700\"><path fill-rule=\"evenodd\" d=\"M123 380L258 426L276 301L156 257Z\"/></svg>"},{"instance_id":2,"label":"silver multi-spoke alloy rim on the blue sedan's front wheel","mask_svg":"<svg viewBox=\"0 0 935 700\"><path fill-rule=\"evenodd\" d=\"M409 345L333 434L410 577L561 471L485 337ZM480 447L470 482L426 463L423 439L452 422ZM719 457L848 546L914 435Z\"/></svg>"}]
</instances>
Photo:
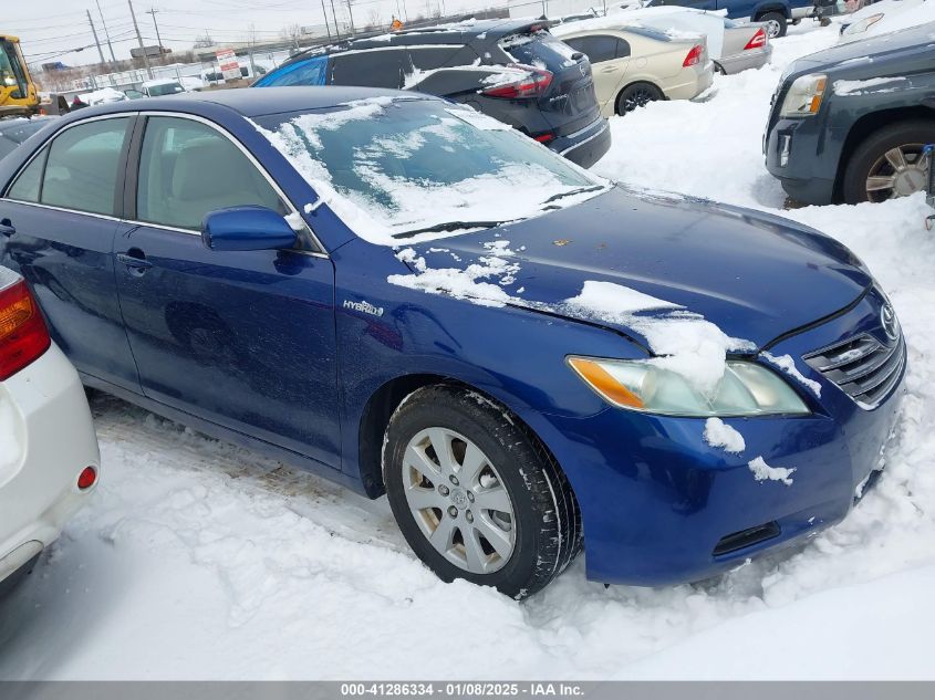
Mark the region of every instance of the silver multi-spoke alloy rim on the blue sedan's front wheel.
<instances>
[{"instance_id":1,"label":"silver multi-spoke alloy rim on the blue sedan's front wheel","mask_svg":"<svg viewBox=\"0 0 935 700\"><path fill-rule=\"evenodd\" d=\"M419 431L403 456L409 511L435 550L455 566L490 574L516 546L510 495L474 442L447 428Z\"/></svg>"}]
</instances>

